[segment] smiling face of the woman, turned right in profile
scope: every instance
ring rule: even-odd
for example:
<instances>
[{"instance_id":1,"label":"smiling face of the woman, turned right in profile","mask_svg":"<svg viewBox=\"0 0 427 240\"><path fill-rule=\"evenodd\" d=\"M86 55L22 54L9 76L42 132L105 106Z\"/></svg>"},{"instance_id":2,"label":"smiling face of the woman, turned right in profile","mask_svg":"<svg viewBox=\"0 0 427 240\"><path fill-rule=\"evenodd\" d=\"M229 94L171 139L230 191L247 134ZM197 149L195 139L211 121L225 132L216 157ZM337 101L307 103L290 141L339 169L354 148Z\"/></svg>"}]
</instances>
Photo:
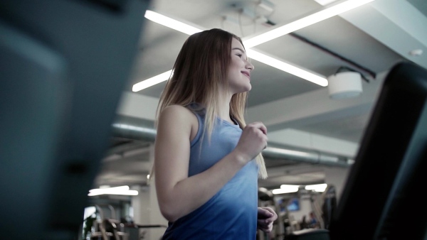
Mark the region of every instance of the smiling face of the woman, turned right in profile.
<instances>
[{"instance_id":1,"label":"smiling face of the woman, turned right in profile","mask_svg":"<svg viewBox=\"0 0 427 240\"><path fill-rule=\"evenodd\" d=\"M248 57L243 45L233 38L231 41L231 61L228 66L228 86L231 94L248 92L251 90L251 71L253 65L248 62Z\"/></svg>"}]
</instances>

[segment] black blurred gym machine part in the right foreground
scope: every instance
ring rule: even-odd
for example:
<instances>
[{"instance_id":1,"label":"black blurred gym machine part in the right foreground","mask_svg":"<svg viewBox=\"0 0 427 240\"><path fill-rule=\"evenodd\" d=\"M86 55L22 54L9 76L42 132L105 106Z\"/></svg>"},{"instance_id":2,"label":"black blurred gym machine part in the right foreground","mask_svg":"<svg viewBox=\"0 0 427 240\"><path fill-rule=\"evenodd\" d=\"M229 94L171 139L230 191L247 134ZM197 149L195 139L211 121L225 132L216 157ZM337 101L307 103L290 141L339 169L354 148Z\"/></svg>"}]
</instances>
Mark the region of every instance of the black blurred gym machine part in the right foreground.
<instances>
[{"instance_id":1,"label":"black blurred gym machine part in the right foreground","mask_svg":"<svg viewBox=\"0 0 427 240\"><path fill-rule=\"evenodd\" d=\"M285 240L427 239L419 189L426 169L427 70L399 63L384 81L329 234L310 229Z\"/></svg>"}]
</instances>

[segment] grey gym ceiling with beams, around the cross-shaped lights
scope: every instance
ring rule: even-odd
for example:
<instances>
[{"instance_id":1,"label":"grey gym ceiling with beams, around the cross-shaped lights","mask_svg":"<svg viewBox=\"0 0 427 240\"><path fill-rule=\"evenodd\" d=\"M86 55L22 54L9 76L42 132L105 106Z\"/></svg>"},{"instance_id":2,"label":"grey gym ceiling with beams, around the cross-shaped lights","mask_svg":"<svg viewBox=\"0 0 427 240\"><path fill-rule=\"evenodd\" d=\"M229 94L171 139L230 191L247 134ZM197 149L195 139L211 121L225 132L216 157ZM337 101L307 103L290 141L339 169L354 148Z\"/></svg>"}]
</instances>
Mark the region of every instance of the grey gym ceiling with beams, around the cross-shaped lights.
<instances>
[{"instance_id":1,"label":"grey gym ceiling with beams, around the cross-shaped lights","mask_svg":"<svg viewBox=\"0 0 427 240\"><path fill-rule=\"evenodd\" d=\"M267 11L257 6L259 2L157 0L152 1L150 10L202 29L223 28L245 40L323 8L315 0L270 0L274 10ZM269 24L253 21L240 13L243 8L265 16ZM426 1L376 0L256 46L254 49L262 53L317 75L327 77L346 66L361 72L369 82L362 82L364 92L359 97L332 100L327 87L252 60L255 70L251 75L246 120L263 121L270 141L354 158L386 72L402 60L427 68L426 26ZM132 85L171 70L187 37L145 21L139 52L124 92L130 100L121 105L127 110L119 109L118 114L153 120L152 109L157 107L155 102L164 82L136 93L132 93ZM409 55L409 51L416 49L424 54ZM154 104L137 99L154 99ZM144 184L150 169L149 151L149 141L112 138L95 185ZM322 165L266 161L270 178L260 181L260 185L325 181Z\"/></svg>"}]
</instances>

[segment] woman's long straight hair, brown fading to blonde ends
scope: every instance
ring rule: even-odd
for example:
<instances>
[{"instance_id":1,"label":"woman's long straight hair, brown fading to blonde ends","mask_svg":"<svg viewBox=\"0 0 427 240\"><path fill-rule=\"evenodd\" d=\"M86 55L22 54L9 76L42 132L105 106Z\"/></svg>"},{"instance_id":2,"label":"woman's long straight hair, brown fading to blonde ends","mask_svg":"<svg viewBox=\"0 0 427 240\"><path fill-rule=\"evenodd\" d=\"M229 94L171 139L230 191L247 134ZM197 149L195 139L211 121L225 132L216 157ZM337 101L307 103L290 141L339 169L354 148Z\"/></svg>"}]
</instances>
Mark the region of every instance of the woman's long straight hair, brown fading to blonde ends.
<instances>
[{"instance_id":1,"label":"woman's long straight hair, brown fading to blonde ends","mask_svg":"<svg viewBox=\"0 0 427 240\"><path fill-rule=\"evenodd\" d=\"M157 120L162 110L170 105L188 106L191 103L201 104L206 111L204 133L209 140L219 115L219 89L228 88L228 66L230 65L231 41L241 38L221 29L211 29L195 33L185 41L176 58L172 77L160 97L157 107ZM243 45L243 43L242 43ZM233 94L230 101L230 116L235 119L241 129L246 126L243 117L248 92ZM264 158L261 153L256 158L258 176L267 178Z\"/></svg>"}]
</instances>

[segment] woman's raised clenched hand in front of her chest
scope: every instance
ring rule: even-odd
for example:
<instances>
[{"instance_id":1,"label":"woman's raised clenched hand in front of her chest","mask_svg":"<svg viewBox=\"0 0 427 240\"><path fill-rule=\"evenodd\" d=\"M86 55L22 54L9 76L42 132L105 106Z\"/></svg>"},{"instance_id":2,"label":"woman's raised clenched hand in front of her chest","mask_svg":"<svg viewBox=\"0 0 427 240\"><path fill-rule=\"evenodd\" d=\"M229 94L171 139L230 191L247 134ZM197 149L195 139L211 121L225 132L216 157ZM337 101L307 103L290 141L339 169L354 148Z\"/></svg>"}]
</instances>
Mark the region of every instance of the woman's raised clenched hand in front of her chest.
<instances>
[{"instance_id":1,"label":"woman's raised clenched hand in front of her chest","mask_svg":"<svg viewBox=\"0 0 427 240\"><path fill-rule=\"evenodd\" d=\"M267 146L267 128L257 121L246 125L243 129L235 151L242 157L244 163L255 158Z\"/></svg>"}]
</instances>

